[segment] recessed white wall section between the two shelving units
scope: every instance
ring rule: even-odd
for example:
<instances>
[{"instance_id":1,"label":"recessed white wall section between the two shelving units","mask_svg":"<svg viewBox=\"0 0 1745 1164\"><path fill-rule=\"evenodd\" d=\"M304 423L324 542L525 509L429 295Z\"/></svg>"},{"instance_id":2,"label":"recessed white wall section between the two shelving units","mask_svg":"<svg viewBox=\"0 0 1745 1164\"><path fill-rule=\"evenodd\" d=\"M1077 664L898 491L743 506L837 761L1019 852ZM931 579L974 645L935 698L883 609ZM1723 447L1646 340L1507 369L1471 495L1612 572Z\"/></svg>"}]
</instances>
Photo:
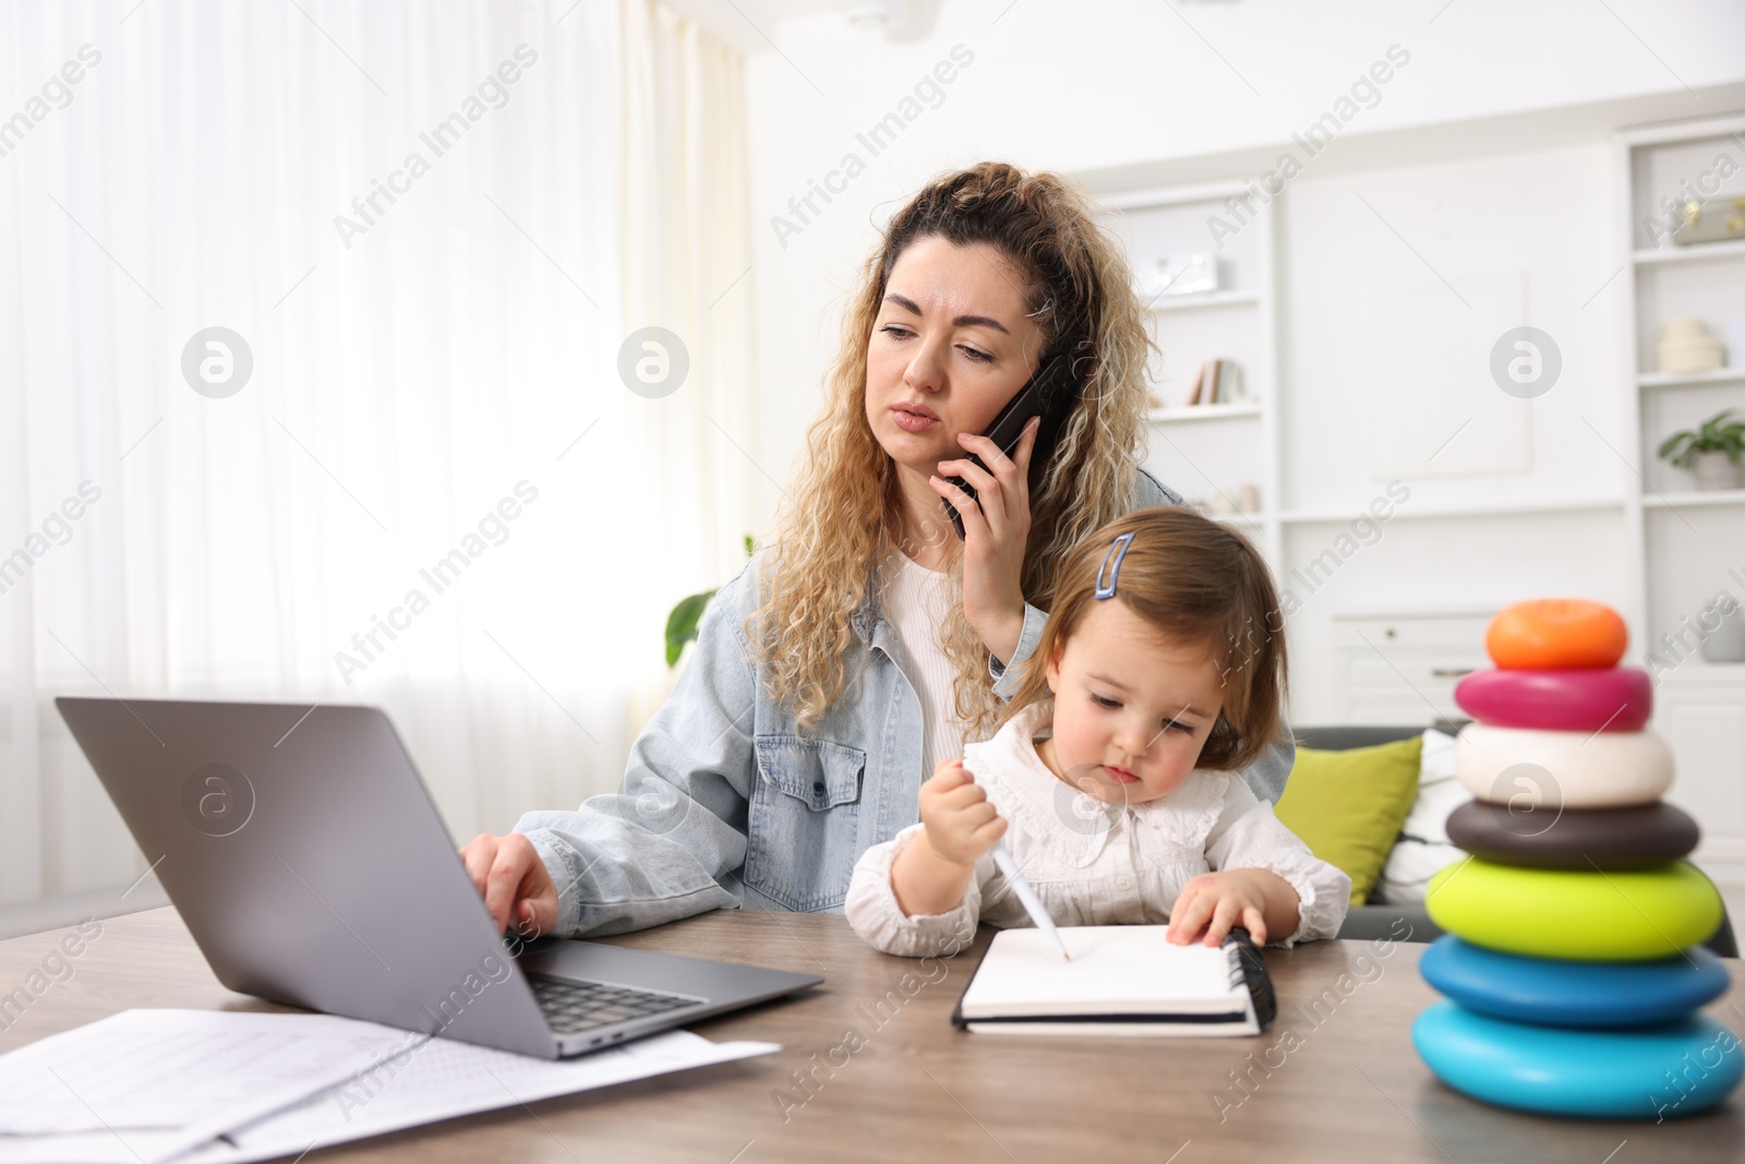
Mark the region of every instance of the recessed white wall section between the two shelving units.
<instances>
[{"instance_id":1,"label":"recessed white wall section between the two shelving units","mask_svg":"<svg viewBox=\"0 0 1745 1164\"><path fill-rule=\"evenodd\" d=\"M1286 511L1356 515L1396 476L1412 490L1380 541L1312 592L1290 574L1345 524L1286 525L1281 581L1302 599L1291 616L1297 721L1337 716L1337 613L1495 609L1551 593L1628 606L1623 508L1422 517L1462 504L1623 496L1626 469L1607 447L1623 445L1618 295L1600 291L1616 272L1609 244L1618 230L1604 197L1609 164L1605 145L1579 145L1326 180L1305 175L1290 188L1279 279ZM1513 321L1495 318L1499 283L1520 286ZM1427 288L1434 318L1422 321L1426 332L1475 321L1488 328L1468 346L1459 391L1372 382L1368 346L1386 339L1377 335L1372 290L1410 284ZM1490 340L1518 325L1546 330L1564 353L1558 382L1530 401L1504 396L1485 377ZM1379 424L1377 393L1405 396L1399 414L1408 422L1398 431ZM1384 466L1389 471L1377 471Z\"/></svg>"}]
</instances>

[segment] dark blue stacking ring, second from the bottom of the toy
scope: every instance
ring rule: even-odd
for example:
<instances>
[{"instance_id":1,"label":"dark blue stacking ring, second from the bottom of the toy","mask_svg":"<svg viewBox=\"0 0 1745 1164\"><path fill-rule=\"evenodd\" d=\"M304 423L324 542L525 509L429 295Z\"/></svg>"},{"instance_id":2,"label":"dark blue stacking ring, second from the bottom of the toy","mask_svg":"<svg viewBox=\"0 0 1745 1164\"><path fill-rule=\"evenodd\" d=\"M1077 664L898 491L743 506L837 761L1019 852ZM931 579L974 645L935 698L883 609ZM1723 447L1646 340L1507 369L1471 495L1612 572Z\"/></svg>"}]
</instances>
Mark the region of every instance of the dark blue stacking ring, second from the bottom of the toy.
<instances>
[{"instance_id":1,"label":"dark blue stacking ring, second from the bottom of the toy","mask_svg":"<svg viewBox=\"0 0 1745 1164\"><path fill-rule=\"evenodd\" d=\"M1701 946L1659 962L1522 958L1443 934L1419 960L1424 981L1468 1010L1541 1026L1651 1026L1728 993L1728 969Z\"/></svg>"}]
</instances>

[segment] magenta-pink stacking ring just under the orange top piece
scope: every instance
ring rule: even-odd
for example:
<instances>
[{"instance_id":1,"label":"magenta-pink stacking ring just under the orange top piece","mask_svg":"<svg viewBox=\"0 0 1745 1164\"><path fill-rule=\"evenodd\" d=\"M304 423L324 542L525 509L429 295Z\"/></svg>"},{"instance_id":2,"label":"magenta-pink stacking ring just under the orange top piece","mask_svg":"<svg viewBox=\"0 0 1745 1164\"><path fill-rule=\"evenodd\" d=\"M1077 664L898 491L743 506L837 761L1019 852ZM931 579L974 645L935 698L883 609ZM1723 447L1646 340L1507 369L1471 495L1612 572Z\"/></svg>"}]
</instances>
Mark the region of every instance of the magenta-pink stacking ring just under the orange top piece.
<instances>
[{"instance_id":1,"label":"magenta-pink stacking ring just under the orange top piece","mask_svg":"<svg viewBox=\"0 0 1745 1164\"><path fill-rule=\"evenodd\" d=\"M1492 728L1640 731L1654 688L1640 667L1476 670L1455 684L1454 702Z\"/></svg>"}]
</instances>

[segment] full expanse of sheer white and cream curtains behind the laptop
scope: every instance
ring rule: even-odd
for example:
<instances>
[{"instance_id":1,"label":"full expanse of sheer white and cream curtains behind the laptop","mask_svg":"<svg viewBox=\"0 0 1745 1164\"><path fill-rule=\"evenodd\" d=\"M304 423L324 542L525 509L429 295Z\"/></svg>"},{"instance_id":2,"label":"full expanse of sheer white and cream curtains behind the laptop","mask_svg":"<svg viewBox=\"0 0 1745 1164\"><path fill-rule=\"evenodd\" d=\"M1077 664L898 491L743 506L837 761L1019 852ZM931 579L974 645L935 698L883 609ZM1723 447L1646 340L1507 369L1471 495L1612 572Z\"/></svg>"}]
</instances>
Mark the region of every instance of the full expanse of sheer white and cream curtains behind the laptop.
<instances>
[{"instance_id":1,"label":"full expanse of sheer white and cream curtains behind the laptop","mask_svg":"<svg viewBox=\"0 0 1745 1164\"><path fill-rule=\"evenodd\" d=\"M459 841L618 787L752 520L738 61L628 0L40 0L0 80L0 902L145 869L56 695L380 705Z\"/></svg>"}]
</instances>

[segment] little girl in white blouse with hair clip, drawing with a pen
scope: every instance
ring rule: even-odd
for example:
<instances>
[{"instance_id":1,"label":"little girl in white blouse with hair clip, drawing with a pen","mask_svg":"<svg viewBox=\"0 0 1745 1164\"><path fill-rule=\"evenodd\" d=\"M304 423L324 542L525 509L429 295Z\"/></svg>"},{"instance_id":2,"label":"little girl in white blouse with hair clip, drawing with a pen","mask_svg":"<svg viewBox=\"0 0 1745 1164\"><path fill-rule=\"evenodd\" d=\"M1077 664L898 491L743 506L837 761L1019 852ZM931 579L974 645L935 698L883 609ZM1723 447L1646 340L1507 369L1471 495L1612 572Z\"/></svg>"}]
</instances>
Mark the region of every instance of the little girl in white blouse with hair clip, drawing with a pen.
<instances>
[{"instance_id":1,"label":"little girl in white blouse with hair clip, drawing with a pen","mask_svg":"<svg viewBox=\"0 0 1745 1164\"><path fill-rule=\"evenodd\" d=\"M1169 923L1216 946L1331 937L1351 878L1235 771L1279 731L1284 635L1267 565L1192 510L1139 510L1061 567L1042 646L986 743L921 785L921 824L869 848L855 932L892 955L956 953L977 921L1030 925L1007 848L1057 925Z\"/></svg>"}]
</instances>

